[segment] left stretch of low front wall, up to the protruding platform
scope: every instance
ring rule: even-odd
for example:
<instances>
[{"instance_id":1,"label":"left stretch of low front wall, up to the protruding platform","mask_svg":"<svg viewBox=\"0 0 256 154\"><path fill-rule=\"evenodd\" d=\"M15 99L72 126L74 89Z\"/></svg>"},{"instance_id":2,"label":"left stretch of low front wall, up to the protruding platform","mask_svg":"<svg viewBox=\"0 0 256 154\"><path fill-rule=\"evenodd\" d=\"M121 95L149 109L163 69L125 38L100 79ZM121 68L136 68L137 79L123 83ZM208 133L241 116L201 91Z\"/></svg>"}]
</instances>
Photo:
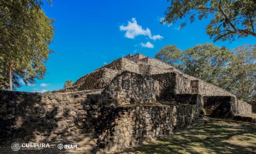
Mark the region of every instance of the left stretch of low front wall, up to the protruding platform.
<instances>
[{"instance_id":1,"label":"left stretch of low front wall, up to the protruding platform","mask_svg":"<svg viewBox=\"0 0 256 154\"><path fill-rule=\"evenodd\" d=\"M51 141L94 129L103 103L96 93L0 91L0 144Z\"/></svg>"}]
</instances>

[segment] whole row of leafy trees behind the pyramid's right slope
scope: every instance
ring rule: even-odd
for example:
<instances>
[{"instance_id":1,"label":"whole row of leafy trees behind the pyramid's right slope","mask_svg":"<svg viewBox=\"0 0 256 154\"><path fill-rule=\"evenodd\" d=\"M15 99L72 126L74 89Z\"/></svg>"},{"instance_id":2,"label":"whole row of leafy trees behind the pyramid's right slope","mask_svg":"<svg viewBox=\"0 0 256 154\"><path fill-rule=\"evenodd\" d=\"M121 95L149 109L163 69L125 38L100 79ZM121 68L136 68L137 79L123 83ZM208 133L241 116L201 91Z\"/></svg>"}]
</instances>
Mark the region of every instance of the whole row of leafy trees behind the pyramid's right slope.
<instances>
[{"instance_id":1,"label":"whole row of leafy trees behind the pyramid's right slope","mask_svg":"<svg viewBox=\"0 0 256 154\"><path fill-rule=\"evenodd\" d=\"M222 87L244 101L256 95L256 45L233 50L211 43L199 44L181 51L175 45L165 46L155 58L173 65L185 74Z\"/></svg>"}]
</instances>

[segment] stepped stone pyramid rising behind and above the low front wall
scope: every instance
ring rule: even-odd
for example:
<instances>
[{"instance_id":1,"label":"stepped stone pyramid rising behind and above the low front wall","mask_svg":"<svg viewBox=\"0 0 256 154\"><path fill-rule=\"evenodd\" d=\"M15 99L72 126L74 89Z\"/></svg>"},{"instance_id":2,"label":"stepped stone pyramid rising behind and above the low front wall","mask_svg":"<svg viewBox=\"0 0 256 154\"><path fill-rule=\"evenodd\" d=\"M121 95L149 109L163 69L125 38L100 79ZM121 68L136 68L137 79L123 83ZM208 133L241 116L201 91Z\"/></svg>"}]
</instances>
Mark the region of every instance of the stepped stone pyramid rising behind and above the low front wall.
<instances>
[{"instance_id":1,"label":"stepped stone pyramid rising behind and above the low front wall","mask_svg":"<svg viewBox=\"0 0 256 154\"><path fill-rule=\"evenodd\" d=\"M206 110L216 109L211 103L207 103L207 99L211 100L210 98L214 97L213 100L216 100L228 96L233 99L233 103L228 107L233 115L248 116L251 113L250 105L238 100L234 94L140 53L121 57L79 78L74 86L53 93L83 90L97 90L103 104L187 102L198 104L198 111L203 104ZM196 103L198 101L200 103Z\"/></svg>"}]
</instances>

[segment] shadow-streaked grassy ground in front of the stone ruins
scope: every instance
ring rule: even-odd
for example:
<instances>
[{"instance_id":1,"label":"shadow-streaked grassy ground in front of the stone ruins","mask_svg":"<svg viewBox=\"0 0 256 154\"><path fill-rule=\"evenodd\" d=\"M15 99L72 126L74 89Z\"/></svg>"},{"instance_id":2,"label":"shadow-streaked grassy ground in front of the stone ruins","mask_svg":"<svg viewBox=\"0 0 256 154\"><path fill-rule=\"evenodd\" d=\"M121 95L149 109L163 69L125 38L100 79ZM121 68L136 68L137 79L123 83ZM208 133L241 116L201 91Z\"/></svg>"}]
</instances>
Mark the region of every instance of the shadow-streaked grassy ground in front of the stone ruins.
<instances>
[{"instance_id":1,"label":"shadow-streaked grassy ground in front of the stone ruins","mask_svg":"<svg viewBox=\"0 0 256 154\"><path fill-rule=\"evenodd\" d=\"M193 127L117 153L217 154L256 153L256 125L204 118Z\"/></svg>"}]
</instances>

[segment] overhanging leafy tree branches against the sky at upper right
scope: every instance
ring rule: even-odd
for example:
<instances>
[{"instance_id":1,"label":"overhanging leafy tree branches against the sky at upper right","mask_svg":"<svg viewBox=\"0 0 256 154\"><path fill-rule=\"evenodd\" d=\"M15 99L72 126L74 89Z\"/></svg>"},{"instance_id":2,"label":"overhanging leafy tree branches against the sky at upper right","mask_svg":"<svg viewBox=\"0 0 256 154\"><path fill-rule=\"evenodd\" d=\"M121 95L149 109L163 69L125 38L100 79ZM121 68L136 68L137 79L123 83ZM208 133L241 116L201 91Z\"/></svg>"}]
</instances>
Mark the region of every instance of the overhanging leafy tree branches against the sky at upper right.
<instances>
[{"instance_id":1,"label":"overhanging leafy tree branches against the sky at upper right","mask_svg":"<svg viewBox=\"0 0 256 154\"><path fill-rule=\"evenodd\" d=\"M170 1L170 0L167 0ZM211 18L206 26L206 33L217 40L234 40L247 37L256 37L256 3L255 0L171 0L171 5L164 13L165 19L161 23L175 23L179 19L185 19L180 28L203 18Z\"/></svg>"}]
</instances>

